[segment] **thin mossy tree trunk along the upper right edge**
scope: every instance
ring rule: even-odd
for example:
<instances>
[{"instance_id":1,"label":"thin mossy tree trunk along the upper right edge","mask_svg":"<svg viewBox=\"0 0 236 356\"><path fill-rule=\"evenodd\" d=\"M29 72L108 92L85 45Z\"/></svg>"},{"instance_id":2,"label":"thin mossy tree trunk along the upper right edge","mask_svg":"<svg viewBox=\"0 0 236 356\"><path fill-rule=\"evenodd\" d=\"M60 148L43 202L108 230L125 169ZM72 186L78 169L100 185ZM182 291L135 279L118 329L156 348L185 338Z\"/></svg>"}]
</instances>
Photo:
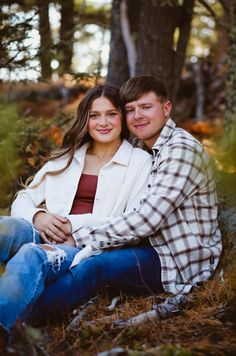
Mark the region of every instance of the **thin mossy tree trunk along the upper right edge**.
<instances>
[{"instance_id":1,"label":"thin mossy tree trunk along the upper right edge","mask_svg":"<svg viewBox=\"0 0 236 356\"><path fill-rule=\"evenodd\" d=\"M228 30L228 72L226 81L225 129L236 130L236 3L230 0Z\"/></svg>"}]
</instances>

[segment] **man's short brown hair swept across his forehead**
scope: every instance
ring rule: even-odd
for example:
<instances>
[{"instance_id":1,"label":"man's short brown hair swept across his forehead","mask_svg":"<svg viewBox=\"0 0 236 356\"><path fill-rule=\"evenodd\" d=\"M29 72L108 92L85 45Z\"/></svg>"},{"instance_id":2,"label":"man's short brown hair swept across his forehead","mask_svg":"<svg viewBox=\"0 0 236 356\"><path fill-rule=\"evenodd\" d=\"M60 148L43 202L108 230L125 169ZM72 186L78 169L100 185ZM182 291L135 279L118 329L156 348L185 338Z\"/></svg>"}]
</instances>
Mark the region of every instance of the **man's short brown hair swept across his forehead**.
<instances>
[{"instance_id":1,"label":"man's short brown hair swept across his forehead","mask_svg":"<svg viewBox=\"0 0 236 356\"><path fill-rule=\"evenodd\" d=\"M168 100L165 84L152 75L137 75L130 78L120 88L120 98L123 104L138 100L143 94L154 92L161 101Z\"/></svg>"}]
</instances>

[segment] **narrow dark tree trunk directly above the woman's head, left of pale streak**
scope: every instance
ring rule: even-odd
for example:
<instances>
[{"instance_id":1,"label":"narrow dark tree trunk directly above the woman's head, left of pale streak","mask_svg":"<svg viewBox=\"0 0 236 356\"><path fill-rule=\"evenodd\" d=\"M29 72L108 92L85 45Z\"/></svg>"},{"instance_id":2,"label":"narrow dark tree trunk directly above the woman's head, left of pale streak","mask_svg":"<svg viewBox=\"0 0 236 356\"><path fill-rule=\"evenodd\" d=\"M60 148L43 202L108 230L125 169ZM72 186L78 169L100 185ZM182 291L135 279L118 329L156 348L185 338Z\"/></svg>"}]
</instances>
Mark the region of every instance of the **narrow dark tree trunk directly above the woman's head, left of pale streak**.
<instances>
[{"instance_id":1,"label":"narrow dark tree trunk directly above the woman's head, left of pale streak","mask_svg":"<svg viewBox=\"0 0 236 356\"><path fill-rule=\"evenodd\" d=\"M129 78L127 51L121 23L120 0L113 0L111 10L111 43L108 63L107 83L120 87Z\"/></svg>"}]
</instances>

